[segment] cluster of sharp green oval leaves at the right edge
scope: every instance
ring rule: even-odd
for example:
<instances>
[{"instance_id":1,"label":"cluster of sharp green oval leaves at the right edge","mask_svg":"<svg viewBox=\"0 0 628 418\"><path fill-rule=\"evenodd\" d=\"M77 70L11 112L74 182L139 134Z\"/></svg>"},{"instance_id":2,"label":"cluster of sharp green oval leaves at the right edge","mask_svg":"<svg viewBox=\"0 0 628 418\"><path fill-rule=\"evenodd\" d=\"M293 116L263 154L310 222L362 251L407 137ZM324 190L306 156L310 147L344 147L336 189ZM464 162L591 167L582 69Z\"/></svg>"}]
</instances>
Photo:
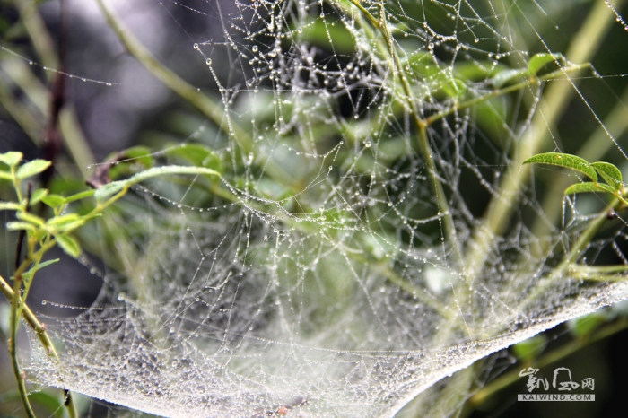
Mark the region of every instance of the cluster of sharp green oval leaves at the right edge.
<instances>
[{"instance_id":1,"label":"cluster of sharp green oval leaves at the right edge","mask_svg":"<svg viewBox=\"0 0 628 418\"><path fill-rule=\"evenodd\" d=\"M589 162L576 155L561 152L536 154L528 158L528 160L523 161L523 163L549 164L580 171L591 179L591 181L584 181L567 187L564 191L565 195L575 195L585 192L603 192L615 196L620 202L628 206L628 202L624 199L626 190L624 188L622 171L614 164L605 161ZM600 177L604 179L606 183L600 183Z\"/></svg>"}]
</instances>

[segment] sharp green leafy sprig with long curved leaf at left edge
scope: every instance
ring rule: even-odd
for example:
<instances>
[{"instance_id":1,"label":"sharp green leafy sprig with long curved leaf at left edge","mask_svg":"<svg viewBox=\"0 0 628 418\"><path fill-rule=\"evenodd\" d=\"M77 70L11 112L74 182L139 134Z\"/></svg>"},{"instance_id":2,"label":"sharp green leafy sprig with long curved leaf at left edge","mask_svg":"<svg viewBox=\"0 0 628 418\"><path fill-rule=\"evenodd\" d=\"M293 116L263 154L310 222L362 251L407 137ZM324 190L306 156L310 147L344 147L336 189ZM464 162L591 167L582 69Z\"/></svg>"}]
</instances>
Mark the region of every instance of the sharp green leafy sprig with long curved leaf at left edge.
<instances>
[{"instance_id":1,"label":"sharp green leafy sprig with long curved leaf at left edge","mask_svg":"<svg viewBox=\"0 0 628 418\"><path fill-rule=\"evenodd\" d=\"M26 236L26 257L19 263L13 274L13 290L0 276L0 289L4 295L11 300L11 346L10 354L13 364L13 373L18 381L18 389L22 399L22 405L29 417L34 417L29 402L28 393L25 386L25 379L22 378L22 370L20 368L15 340L17 338L17 328L19 326L19 318L22 316L31 324L41 344L44 345L49 355L58 360L58 355L54 345L51 343L46 330L39 324L37 318L34 317L31 310L25 303L28 293L31 289L31 283L36 273L42 268L56 263L58 259L42 262L44 255L51 248L58 245L70 257L81 257L83 249L77 239L74 238L73 232L82 227L86 222L96 218L112 203L116 202L120 197L126 194L129 187L155 177L173 174L191 174L205 175L214 178L221 178L219 171L207 167L213 166L220 170L216 164L214 154L212 152L202 152L204 150L196 148L179 148L180 157L184 160L192 162L192 166L164 166L151 167L153 158L143 149L130 150L124 153L126 159L139 161L144 170L135 173L127 179L111 181L109 169L113 163L110 163L103 170L99 177L100 182L97 189L89 189L71 196L62 196L49 193L48 189L39 188L30 192L32 177L37 176L50 167L50 161L33 160L22 162L22 152L5 152L0 154L0 182L8 181L13 186L14 200L0 201L0 211L13 211L15 213L15 221L7 222L6 229L9 231L22 231ZM137 154L137 155L135 155ZM202 157L202 158L201 158ZM114 173L120 174L120 173ZM115 178L116 176L114 176ZM25 188L24 183L29 183L29 193L24 196L22 190ZM93 198L92 210L87 213L70 212L69 205L88 198ZM45 219L38 214L31 213L30 208L37 204L47 205L52 210L52 216ZM33 325L34 324L34 325ZM76 410L69 392L66 392L65 406L71 417L76 417Z\"/></svg>"}]
</instances>

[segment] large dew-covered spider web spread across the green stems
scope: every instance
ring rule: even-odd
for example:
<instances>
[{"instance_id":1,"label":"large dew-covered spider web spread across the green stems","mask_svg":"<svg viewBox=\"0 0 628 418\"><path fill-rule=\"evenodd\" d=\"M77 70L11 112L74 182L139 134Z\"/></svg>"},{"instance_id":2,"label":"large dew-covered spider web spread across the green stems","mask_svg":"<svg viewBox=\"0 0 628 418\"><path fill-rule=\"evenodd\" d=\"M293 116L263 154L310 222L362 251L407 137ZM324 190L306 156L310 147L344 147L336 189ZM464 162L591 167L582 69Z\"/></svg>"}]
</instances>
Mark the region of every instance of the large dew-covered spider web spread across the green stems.
<instances>
[{"instance_id":1,"label":"large dew-covered spider web spread across the green stems","mask_svg":"<svg viewBox=\"0 0 628 418\"><path fill-rule=\"evenodd\" d=\"M625 55L619 3L563 28L567 3L150 4L220 28L185 46L218 116L153 164L222 176L129 192L138 258L49 326L63 366L31 371L168 416L393 416L416 396L448 415L481 370L453 373L623 300L605 266L628 264L625 211L591 232L608 196L563 197L578 172L522 165L627 160L624 73L587 65L608 43Z\"/></svg>"}]
</instances>

